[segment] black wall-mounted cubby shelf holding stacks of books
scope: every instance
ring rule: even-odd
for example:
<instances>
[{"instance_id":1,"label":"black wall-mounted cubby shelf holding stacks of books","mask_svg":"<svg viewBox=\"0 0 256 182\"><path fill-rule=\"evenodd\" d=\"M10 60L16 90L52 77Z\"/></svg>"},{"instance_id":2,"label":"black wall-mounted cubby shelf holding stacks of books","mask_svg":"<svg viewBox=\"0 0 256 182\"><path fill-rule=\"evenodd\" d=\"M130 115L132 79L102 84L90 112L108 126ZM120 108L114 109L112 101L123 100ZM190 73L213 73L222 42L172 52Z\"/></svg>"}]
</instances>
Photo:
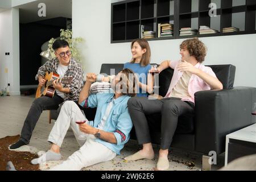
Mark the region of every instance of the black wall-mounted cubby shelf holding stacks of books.
<instances>
[{"instance_id":1,"label":"black wall-mounted cubby shelf holding stacks of books","mask_svg":"<svg viewBox=\"0 0 256 182\"><path fill-rule=\"evenodd\" d=\"M255 34L255 11L255 0L116 2L112 3L111 42L130 42L141 38L143 31L153 32L154 38L148 40ZM159 36L159 25L166 23L171 24L172 36Z\"/></svg>"}]
</instances>

